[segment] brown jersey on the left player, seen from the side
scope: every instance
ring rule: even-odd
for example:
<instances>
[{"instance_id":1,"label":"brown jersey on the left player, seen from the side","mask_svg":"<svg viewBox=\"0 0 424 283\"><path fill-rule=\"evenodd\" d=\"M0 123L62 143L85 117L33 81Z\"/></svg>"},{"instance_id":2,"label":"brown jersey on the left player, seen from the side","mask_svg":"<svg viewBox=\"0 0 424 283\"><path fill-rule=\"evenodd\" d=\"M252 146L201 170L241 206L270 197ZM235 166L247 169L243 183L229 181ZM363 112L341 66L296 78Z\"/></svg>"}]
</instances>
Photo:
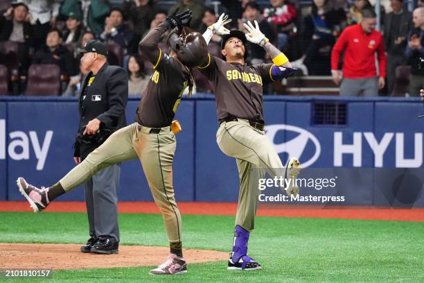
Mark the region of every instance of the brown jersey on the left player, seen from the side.
<instances>
[{"instance_id":1,"label":"brown jersey on the left player, seen from the side","mask_svg":"<svg viewBox=\"0 0 424 283\"><path fill-rule=\"evenodd\" d=\"M162 23L152 33L146 35L145 40L157 42L168 26ZM150 128L170 126L175 111L181 101L184 89L188 86L190 74L188 69L179 60L170 57L163 50L157 48L145 55L154 64L154 73L141 98L136 111L135 121Z\"/></svg>"}]
</instances>

